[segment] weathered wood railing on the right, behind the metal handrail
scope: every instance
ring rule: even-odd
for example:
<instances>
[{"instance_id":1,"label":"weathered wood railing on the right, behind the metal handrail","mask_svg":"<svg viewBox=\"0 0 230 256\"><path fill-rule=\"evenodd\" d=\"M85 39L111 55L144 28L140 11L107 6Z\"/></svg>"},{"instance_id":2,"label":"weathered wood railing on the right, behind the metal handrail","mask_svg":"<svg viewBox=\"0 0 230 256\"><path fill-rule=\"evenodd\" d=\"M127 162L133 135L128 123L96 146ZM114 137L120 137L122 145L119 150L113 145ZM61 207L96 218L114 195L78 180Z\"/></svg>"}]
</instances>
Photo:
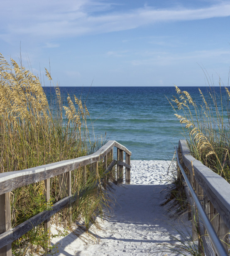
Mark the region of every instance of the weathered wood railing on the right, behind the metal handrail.
<instances>
[{"instance_id":1,"label":"weathered wood railing on the right, behind the metal handrail","mask_svg":"<svg viewBox=\"0 0 230 256\"><path fill-rule=\"evenodd\" d=\"M216 174L200 161L191 156L185 140L179 141L179 161L185 170L190 183L195 190L198 199L210 220L216 234L222 241L225 251L229 251L229 229L230 229L230 184L220 175ZM191 194L185 187L188 197L188 214L191 218L191 212L194 211L194 203ZM193 220L193 238L196 238L196 225ZM198 219L196 220L198 221ZM205 229L201 228L202 241L205 247L206 255L215 256L210 239Z\"/></svg>"}]
</instances>

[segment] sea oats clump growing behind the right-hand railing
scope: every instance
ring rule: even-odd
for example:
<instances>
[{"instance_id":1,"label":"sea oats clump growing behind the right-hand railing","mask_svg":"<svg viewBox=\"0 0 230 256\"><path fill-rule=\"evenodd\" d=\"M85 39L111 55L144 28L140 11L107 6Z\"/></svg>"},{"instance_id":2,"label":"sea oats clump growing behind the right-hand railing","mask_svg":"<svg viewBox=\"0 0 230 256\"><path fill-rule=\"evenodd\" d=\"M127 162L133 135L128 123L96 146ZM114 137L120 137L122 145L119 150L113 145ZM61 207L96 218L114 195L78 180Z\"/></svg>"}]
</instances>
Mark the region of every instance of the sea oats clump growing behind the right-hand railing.
<instances>
[{"instance_id":1,"label":"sea oats clump growing behind the right-hand railing","mask_svg":"<svg viewBox=\"0 0 230 256\"><path fill-rule=\"evenodd\" d=\"M202 103L193 100L187 91L177 86L173 99L169 99L175 116L184 124L186 141L194 158L223 176L230 182L230 139L229 104L230 92L227 87L219 85L218 94L215 87L209 87L208 97L201 89ZM224 92L223 92L224 90Z\"/></svg>"}]
</instances>

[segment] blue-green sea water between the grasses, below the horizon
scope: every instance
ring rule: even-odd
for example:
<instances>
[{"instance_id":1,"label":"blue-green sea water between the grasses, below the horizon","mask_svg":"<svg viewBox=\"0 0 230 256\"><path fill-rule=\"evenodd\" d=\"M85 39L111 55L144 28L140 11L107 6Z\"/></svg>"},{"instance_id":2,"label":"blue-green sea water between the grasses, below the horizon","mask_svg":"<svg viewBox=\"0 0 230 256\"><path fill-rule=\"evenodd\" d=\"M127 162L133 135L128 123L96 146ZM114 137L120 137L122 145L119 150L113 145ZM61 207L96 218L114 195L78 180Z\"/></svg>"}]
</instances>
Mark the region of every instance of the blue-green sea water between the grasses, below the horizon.
<instances>
[{"instance_id":1,"label":"blue-green sea water between the grasses, below the horizon","mask_svg":"<svg viewBox=\"0 0 230 256\"><path fill-rule=\"evenodd\" d=\"M54 90L45 87L49 99ZM179 120L168 98L175 87L60 87L66 101L68 94L81 98L91 116L96 136L114 139L132 152L133 160L169 160L174 146L184 138ZM180 87L196 103L202 104L198 87ZM207 96L206 87L201 87ZM215 88L217 94L219 88Z\"/></svg>"}]
</instances>

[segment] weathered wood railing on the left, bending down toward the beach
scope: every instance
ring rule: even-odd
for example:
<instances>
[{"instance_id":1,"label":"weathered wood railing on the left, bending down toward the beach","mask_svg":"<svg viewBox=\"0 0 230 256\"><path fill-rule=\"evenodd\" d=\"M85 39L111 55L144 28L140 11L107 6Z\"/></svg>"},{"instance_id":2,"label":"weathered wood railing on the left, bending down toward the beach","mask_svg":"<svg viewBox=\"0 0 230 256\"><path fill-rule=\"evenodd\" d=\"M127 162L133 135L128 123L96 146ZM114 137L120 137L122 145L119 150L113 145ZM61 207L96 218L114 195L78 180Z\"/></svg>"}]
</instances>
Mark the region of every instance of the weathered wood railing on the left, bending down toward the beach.
<instances>
[{"instance_id":1,"label":"weathered wood railing on the left, bending down toward the beach","mask_svg":"<svg viewBox=\"0 0 230 256\"><path fill-rule=\"evenodd\" d=\"M117 147L117 161L113 160L109 165L108 158L113 159L113 147ZM123 153L125 152L125 162ZM0 174L0 256L11 256L11 244L16 239L32 230L35 226L44 222L45 232L50 232L50 217L76 201L80 195L71 194L71 171L83 167L86 174L86 165L91 164L92 171L98 172L98 162L103 161L106 171L117 164L117 182L123 182L123 166L125 166L125 183L130 184L130 156L131 152L115 140L108 141L97 152L76 159L65 160L53 164L46 164L22 171L10 171ZM57 201L49 210L42 211L22 224L11 228L10 191L38 181L45 183L45 198L50 199L50 178L59 176L59 181L66 191L63 199ZM86 179L86 177L85 177ZM48 233L49 234L49 233Z\"/></svg>"}]
</instances>

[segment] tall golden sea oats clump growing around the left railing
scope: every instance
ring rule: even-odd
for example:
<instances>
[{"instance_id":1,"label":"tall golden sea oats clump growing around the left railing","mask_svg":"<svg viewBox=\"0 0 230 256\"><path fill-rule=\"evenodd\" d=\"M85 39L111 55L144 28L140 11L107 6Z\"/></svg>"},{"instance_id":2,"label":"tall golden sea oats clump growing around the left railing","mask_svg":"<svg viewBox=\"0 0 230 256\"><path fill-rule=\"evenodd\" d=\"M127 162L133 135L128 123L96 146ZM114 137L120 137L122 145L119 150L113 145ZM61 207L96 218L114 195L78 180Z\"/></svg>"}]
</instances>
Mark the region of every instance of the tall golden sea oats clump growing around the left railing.
<instances>
[{"instance_id":1,"label":"tall golden sea oats clump growing around the left railing","mask_svg":"<svg viewBox=\"0 0 230 256\"><path fill-rule=\"evenodd\" d=\"M52 82L47 70L46 76ZM48 102L39 78L22 64L12 59L7 62L0 54L0 173L73 159L91 154L96 149L87 129L90 114L86 105L76 96L74 102L68 96L64 106L58 85L53 86L55 97ZM94 216L102 214L102 206L107 205L108 199L105 190L94 188L101 177L99 172L92 177L90 168L78 168L72 172L72 194L86 191L86 195L56 214L52 221L71 227L77 220L87 219L88 229L90 222L95 222ZM44 197L44 181L12 191L12 227L50 209L52 204L66 196L61 193L60 177L55 176L50 182L49 201ZM12 244L13 254L42 255L52 249L47 249L48 241L49 235L44 232L43 223Z\"/></svg>"}]
</instances>

